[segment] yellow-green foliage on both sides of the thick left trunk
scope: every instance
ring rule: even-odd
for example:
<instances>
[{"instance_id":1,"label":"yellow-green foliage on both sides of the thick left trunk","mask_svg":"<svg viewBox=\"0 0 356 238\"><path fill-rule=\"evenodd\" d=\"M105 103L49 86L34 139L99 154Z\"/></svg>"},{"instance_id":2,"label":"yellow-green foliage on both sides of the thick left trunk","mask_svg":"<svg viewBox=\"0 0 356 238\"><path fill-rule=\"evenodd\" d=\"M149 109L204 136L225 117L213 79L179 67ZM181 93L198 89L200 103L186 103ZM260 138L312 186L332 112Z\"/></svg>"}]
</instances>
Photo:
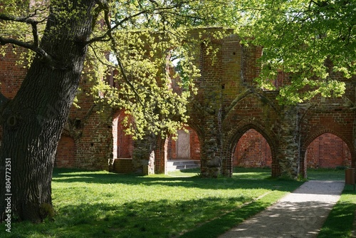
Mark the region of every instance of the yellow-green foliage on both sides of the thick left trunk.
<instances>
[{"instance_id":1,"label":"yellow-green foliage on both sides of the thick left trunk","mask_svg":"<svg viewBox=\"0 0 356 238\"><path fill-rule=\"evenodd\" d=\"M80 19L87 11L80 0L3 3L1 44L18 44L44 56L53 52L41 48L41 38L63 37L65 32L66 38L71 36L71 43L89 46L85 74L94 84L92 94L99 105L125 110L133 118L124 121L129 126L127 133L134 138L142 138L145 133L174 134L187 122L186 105L195 90L192 82L199 77L194 58L200 41L190 38L189 31L229 26L233 15L232 5L225 1L93 1L97 4L92 13L93 33L91 38L81 38L72 25L73 19ZM58 22L55 27L49 19L43 36L50 11ZM1 54L5 52L0 48ZM27 52L19 63L28 62L29 66L33 53ZM176 72L172 59L179 61ZM105 81L108 71L117 72L116 87ZM172 90L172 78L184 88L181 93Z\"/></svg>"}]
</instances>

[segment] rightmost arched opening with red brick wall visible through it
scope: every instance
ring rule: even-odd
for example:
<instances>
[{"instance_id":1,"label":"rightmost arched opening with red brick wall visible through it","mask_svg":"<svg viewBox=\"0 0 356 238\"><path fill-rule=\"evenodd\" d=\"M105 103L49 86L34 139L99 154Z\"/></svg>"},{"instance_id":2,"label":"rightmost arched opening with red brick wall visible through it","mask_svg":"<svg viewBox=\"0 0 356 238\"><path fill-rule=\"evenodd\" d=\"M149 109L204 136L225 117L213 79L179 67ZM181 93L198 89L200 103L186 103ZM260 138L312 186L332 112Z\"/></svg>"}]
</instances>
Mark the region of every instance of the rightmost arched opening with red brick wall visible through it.
<instances>
[{"instance_id":1,"label":"rightmost arched opening with red brick wall visible through it","mask_svg":"<svg viewBox=\"0 0 356 238\"><path fill-rule=\"evenodd\" d=\"M341 138L324 133L308 145L305 162L307 168L350 167L352 157L350 149Z\"/></svg>"}]
</instances>

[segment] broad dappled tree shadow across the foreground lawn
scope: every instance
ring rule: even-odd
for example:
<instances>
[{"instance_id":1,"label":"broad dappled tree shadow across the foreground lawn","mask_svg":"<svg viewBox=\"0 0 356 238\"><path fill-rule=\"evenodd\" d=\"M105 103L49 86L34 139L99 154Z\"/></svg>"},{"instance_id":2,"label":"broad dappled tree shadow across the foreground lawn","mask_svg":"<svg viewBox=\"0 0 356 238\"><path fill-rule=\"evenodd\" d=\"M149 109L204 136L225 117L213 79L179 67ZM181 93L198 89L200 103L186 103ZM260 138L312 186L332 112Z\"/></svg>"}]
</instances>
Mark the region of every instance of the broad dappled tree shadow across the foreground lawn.
<instances>
[{"instance_id":1,"label":"broad dappled tree shadow across the foreground lawn","mask_svg":"<svg viewBox=\"0 0 356 238\"><path fill-rule=\"evenodd\" d=\"M13 237L177 237L197 225L226 213L226 203L244 203L246 198L205 197L188 201L157 200L102 202L66 205L57 210L55 222L21 229L14 224ZM257 206L257 205L256 205ZM266 207L258 205L258 207ZM236 207L235 207L236 208ZM231 207L230 207L231 209ZM254 209L254 207L251 207ZM1 236L1 233L0 233ZM1 236L2 237L2 236Z\"/></svg>"}]
</instances>

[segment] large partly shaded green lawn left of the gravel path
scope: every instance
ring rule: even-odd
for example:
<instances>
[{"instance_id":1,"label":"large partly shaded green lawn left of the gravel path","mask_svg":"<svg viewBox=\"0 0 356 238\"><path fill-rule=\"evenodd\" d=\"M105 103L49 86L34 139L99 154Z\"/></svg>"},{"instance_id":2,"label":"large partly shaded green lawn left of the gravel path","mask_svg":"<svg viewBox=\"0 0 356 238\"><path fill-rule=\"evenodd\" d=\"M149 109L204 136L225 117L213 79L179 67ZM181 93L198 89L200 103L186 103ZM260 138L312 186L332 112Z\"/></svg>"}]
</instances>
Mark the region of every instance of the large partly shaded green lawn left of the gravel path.
<instances>
[{"instance_id":1,"label":"large partly shaded green lawn left of the gravel path","mask_svg":"<svg viewBox=\"0 0 356 238\"><path fill-rule=\"evenodd\" d=\"M301 184L271 179L268 170L244 170L218 179L190 174L193 177L55 170L55 221L14 223L11 234L1 229L0 237L177 237L211 225L214 234L221 234ZM261 195L266 196L256 200Z\"/></svg>"}]
</instances>

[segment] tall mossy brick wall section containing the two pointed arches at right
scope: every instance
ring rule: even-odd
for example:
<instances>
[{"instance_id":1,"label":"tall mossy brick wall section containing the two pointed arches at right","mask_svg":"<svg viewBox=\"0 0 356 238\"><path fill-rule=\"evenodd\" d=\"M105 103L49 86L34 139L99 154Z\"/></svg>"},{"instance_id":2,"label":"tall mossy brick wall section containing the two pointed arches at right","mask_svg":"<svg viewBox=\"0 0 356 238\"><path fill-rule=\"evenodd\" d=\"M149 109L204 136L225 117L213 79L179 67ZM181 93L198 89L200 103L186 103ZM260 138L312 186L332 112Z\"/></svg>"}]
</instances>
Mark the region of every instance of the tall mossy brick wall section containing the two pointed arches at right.
<instances>
[{"instance_id":1,"label":"tall mossy brick wall section containing the two pointed arches at right","mask_svg":"<svg viewBox=\"0 0 356 238\"><path fill-rule=\"evenodd\" d=\"M213 41L220 50L214 64L201 50L199 93L192 103L190 126L201 142L201 172L216 176L231 175L232 155L239 139L249 129L265 138L271 148L273 176L305 176L308 145L325 133L341 138L350 149L355 167L355 77L345 80L347 91L342 98L315 98L297 106L280 106L276 91L256 88L256 60L261 48L241 46L231 35ZM281 73L276 86L288 83ZM344 163L345 165L345 163Z\"/></svg>"}]
</instances>

